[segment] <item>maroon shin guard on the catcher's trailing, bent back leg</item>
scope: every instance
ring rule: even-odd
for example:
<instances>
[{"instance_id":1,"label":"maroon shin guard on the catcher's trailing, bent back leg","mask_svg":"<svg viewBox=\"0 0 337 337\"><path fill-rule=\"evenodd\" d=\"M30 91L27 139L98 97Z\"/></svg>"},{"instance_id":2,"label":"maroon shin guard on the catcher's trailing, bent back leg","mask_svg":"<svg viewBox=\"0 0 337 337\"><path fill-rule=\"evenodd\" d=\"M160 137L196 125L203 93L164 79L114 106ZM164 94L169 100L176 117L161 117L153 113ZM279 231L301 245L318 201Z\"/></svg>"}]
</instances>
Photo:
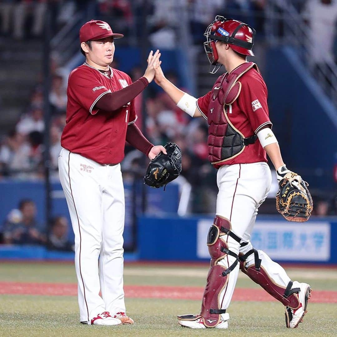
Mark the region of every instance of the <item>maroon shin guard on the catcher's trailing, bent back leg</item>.
<instances>
[{"instance_id":1,"label":"maroon shin guard on the catcher's trailing, bent back leg","mask_svg":"<svg viewBox=\"0 0 337 337\"><path fill-rule=\"evenodd\" d=\"M246 269L244 262L240 261L241 271L255 283L261 285L268 294L280 301L284 306L288 306L292 309L297 309L300 306L298 294L296 294L296 292L299 292L300 289L290 289L293 285L292 281L289 282L286 288L281 287L273 282L263 267L259 266L259 268L256 268L255 266L256 263Z\"/></svg>"}]
</instances>

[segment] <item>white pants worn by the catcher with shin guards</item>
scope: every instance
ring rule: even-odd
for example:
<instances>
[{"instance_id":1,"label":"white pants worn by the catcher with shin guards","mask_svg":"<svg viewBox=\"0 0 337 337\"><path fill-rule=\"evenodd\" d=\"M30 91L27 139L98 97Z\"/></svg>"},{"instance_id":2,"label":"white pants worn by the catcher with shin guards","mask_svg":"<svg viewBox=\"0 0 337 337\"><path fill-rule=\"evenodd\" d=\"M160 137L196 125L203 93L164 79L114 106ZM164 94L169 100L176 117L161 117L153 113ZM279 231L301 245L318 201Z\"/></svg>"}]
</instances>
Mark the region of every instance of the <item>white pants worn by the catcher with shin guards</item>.
<instances>
[{"instance_id":1,"label":"white pants worn by the catcher with shin guards","mask_svg":"<svg viewBox=\"0 0 337 337\"><path fill-rule=\"evenodd\" d=\"M231 221L232 232L242 238L242 242L248 242L244 247L232 237L227 236L228 249L235 254L245 254L252 245L250 235L256 220L258 207L265 201L271 186L271 172L267 163L258 162L251 164L234 164L221 166L217 172L217 184L219 188L216 214ZM258 247L254 247L258 248ZM290 281L285 270L270 257L258 250L261 266L269 274L271 279L282 287L286 287ZM219 265L227 269L235 262L235 257L227 255ZM247 257L246 267L254 264L254 254ZM227 286L221 291L219 305L221 309L227 309L231 302L235 284L239 274L239 264L227 275Z\"/></svg>"}]
</instances>

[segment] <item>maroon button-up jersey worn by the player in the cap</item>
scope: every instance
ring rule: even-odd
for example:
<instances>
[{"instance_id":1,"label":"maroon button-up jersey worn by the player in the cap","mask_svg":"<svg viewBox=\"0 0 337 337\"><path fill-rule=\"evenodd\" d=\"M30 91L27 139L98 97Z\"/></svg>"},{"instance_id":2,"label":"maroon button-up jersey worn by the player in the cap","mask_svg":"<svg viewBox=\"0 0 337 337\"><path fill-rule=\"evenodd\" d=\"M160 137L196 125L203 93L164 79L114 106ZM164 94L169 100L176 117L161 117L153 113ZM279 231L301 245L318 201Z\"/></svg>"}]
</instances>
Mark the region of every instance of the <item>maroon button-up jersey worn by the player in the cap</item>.
<instances>
[{"instance_id":1,"label":"maroon button-up jersey worn by the player in the cap","mask_svg":"<svg viewBox=\"0 0 337 337\"><path fill-rule=\"evenodd\" d=\"M101 164L117 164L124 158L126 129L136 121L134 100L116 111L94 109L103 95L131 84L123 71L102 73L89 64L69 75L66 125L61 146Z\"/></svg>"}]
</instances>

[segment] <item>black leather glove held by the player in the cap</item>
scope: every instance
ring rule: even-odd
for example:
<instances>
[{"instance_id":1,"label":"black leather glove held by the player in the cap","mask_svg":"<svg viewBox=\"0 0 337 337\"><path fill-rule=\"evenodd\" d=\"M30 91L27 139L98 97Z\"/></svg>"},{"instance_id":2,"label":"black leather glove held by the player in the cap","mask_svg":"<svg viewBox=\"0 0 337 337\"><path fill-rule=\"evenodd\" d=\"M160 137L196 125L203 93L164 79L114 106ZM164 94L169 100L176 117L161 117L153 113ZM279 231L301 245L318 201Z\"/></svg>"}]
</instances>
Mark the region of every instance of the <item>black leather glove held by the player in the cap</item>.
<instances>
[{"instance_id":1,"label":"black leather glove held by the player in the cap","mask_svg":"<svg viewBox=\"0 0 337 337\"><path fill-rule=\"evenodd\" d=\"M176 179L181 173L182 153L179 146L168 142L164 148L167 154L160 152L147 167L144 182L150 187L162 187Z\"/></svg>"}]
</instances>

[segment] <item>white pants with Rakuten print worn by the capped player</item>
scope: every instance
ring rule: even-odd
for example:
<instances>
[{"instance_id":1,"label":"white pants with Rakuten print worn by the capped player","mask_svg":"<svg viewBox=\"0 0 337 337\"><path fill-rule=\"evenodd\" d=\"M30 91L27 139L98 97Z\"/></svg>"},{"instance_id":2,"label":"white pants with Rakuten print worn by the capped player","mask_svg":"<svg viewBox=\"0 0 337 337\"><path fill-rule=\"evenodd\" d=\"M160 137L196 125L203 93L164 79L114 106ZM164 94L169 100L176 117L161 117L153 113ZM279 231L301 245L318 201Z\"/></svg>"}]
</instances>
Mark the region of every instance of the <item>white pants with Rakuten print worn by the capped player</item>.
<instances>
[{"instance_id":1,"label":"white pants with Rakuten print worn by the capped player","mask_svg":"<svg viewBox=\"0 0 337 337\"><path fill-rule=\"evenodd\" d=\"M104 311L125 312L120 164L101 165L62 149L59 175L75 234L80 320L90 321Z\"/></svg>"}]
</instances>

